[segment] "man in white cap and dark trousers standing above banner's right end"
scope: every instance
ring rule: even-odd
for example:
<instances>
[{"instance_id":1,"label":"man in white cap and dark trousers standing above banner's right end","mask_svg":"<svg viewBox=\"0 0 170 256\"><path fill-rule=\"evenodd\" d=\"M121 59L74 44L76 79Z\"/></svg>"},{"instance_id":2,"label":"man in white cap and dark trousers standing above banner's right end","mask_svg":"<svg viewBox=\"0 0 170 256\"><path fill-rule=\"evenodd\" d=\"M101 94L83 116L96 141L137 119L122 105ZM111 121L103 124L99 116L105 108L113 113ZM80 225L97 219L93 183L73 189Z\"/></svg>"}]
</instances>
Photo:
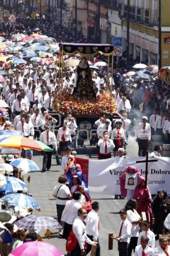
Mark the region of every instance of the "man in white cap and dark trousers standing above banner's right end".
<instances>
[{"instance_id":1,"label":"man in white cap and dark trousers standing above banner's right end","mask_svg":"<svg viewBox=\"0 0 170 256\"><path fill-rule=\"evenodd\" d=\"M146 156L149 143L151 140L151 126L147 123L147 117L142 117L142 123L139 123L137 128L137 139L139 146L138 155Z\"/></svg>"}]
</instances>

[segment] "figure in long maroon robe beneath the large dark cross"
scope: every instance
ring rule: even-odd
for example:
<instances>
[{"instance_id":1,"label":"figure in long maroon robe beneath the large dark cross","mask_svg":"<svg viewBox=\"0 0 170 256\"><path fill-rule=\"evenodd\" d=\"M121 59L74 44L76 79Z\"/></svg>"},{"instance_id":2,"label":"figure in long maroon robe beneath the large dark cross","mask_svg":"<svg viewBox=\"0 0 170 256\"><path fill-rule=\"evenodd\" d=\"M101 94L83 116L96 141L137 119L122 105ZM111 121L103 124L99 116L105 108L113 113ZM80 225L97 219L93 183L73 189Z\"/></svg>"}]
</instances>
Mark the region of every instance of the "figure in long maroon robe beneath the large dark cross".
<instances>
[{"instance_id":1,"label":"figure in long maroon robe beneath the large dark cross","mask_svg":"<svg viewBox=\"0 0 170 256\"><path fill-rule=\"evenodd\" d=\"M142 212L146 212L147 221L152 224L152 197L150 189L145 187L145 177L141 177L137 187L135 187L133 198L137 200L137 212L141 215Z\"/></svg>"}]
</instances>

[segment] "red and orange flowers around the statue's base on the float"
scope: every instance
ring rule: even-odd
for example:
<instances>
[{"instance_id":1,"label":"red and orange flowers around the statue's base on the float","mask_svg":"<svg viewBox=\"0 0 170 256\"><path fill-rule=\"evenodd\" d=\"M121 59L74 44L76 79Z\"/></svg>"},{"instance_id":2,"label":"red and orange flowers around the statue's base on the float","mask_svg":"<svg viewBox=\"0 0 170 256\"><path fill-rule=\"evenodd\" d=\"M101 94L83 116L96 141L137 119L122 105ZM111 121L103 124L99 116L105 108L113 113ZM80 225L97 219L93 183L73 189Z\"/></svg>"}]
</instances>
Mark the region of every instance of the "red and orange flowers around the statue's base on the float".
<instances>
[{"instance_id":1,"label":"red and orange flowers around the statue's base on the float","mask_svg":"<svg viewBox=\"0 0 170 256\"><path fill-rule=\"evenodd\" d=\"M53 108L62 115L73 114L74 116L100 116L102 113L113 115L117 110L117 102L109 92L103 92L95 100L82 100L74 98L67 92L54 97Z\"/></svg>"}]
</instances>

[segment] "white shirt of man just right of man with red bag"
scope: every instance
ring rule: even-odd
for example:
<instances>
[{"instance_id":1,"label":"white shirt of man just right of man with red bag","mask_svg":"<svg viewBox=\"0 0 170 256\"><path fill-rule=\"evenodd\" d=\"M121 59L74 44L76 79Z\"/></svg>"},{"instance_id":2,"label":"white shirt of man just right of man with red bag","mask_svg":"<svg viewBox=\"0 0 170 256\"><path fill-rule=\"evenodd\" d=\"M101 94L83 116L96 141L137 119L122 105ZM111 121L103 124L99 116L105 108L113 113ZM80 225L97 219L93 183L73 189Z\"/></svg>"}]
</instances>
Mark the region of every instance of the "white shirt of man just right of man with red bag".
<instances>
[{"instance_id":1,"label":"white shirt of man just right of man with red bag","mask_svg":"<svg viewBox=\"0 0 170 256\"><path fill-rule=\"evenodd\" d=\"M93 236L94 241L99 237L99 216L93 209L88 213L86 218L86 233L89 236Z\"/></svg>"}]
</instances>

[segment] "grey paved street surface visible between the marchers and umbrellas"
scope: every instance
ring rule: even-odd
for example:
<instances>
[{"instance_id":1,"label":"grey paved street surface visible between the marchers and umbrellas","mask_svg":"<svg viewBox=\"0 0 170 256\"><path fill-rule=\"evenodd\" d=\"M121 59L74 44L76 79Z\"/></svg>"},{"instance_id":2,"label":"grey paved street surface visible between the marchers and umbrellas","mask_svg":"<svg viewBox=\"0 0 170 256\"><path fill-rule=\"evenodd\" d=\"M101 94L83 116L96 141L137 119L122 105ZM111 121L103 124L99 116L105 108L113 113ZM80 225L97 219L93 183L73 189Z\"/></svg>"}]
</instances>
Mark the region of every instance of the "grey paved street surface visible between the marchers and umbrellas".
<instances>
[{"instance_id":1,"label":"grey paved street surface visible between the marchers and umbrellas","mask_svg":"<svg viewBox=\"0 0 170 256\"><path fill-rule=\"evenodd\" d=\"M94 147L86 146L86 152L92 151ZM84 148L78 149L80 151L79 157L88 158L88 155L82 155ZM82 151L82 152L81 152ZM128 156L137 156L137 143L134 139L129 139L129 145L127 147ZM95 155L92 155L95 157ZM42 156L33 156L33 159L41 169ZM29 192L41 206L41 212L34 212L33 214L41 214L42 216L56 217L56 200L53 198L53 188L57 184L58 176L61 174L61 166L56 166L56 159L53 156L52 168L50 172L34 172L29 173L31 176L31 182L29 185ZM25 176L25 182L27 183L27 176ZM108 250L108 234L109 232L115 232L118 234L120 228L120 218L118 211L124 207L126 200L114 200L114 196L110 195L95 195L92 194L92 200L97 200L100 203L100 245L101 256L118 255L117 242L114 242L113 251ZM59 249L65 251L65 240L61 239L57 235L57 230L51 230L53 237L49 240L50 243L57 246ZM41 236L44 237L45 230L41 232ZM44 238L43 238L44 239ZM45 239L44 239L45 240Z\"/></svg>"}]
</instances>

